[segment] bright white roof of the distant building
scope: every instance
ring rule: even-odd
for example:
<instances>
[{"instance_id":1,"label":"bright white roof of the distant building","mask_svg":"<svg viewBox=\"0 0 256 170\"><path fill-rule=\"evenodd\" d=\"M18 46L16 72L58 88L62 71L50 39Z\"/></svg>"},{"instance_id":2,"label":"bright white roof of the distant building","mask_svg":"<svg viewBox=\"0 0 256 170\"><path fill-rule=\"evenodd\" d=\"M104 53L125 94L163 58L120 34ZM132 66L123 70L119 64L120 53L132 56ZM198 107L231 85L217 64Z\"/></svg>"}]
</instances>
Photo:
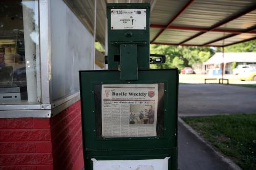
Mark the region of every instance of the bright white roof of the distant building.
<instances>
[{"instance_id":1,"label":"bright white roof of the distant building","mask_svg":"<svg viewBox=\"0 0 256 170\"><path fill-rule=\"evenodd\" d=\"M215 53L209 60L203 64L221 64L222 63L222 53ZM223 58L224 63L232 62L256 62L256 53L224 53Z\"/></svg>"}]
</instances>

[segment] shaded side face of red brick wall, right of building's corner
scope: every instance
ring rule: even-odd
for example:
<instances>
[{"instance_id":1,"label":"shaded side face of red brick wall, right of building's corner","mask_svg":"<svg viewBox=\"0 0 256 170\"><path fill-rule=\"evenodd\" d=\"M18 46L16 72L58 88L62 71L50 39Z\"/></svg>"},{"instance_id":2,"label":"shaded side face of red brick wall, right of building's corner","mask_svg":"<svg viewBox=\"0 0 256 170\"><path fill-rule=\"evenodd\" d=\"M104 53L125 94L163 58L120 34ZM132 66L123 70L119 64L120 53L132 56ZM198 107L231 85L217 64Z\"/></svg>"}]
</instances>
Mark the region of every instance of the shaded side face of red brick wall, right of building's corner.
<instances>
[{"instance_id":1,"label":"shaded side face of red brick wall, right of building's corner","mask_svg":"<svg viewBox=\"0 0 256 170\"><path fill-rule=\"evenodd\" d=\"M51 119L54 169L83 167L80 101Z\"/></svg>"}]
</instances>

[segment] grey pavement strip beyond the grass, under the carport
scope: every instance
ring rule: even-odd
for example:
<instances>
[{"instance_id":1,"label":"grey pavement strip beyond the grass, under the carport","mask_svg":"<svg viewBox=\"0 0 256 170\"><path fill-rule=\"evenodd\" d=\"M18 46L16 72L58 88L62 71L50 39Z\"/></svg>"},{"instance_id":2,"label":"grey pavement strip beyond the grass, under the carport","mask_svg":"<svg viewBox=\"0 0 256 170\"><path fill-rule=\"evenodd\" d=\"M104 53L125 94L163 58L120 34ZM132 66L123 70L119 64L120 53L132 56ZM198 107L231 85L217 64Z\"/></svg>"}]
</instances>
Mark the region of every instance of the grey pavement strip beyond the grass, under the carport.
<instances>
[{"instance_id":1,"label":"grey pavement strip beyond the grass, under the carport","mask_svg":"<svg viewBox=\"0 0 256 170\"><path fill-rule=\"evenodd\" d=\"M219 84L179 85L179 116L256 113L256 88Z\"/></svg>"}]
</instances>

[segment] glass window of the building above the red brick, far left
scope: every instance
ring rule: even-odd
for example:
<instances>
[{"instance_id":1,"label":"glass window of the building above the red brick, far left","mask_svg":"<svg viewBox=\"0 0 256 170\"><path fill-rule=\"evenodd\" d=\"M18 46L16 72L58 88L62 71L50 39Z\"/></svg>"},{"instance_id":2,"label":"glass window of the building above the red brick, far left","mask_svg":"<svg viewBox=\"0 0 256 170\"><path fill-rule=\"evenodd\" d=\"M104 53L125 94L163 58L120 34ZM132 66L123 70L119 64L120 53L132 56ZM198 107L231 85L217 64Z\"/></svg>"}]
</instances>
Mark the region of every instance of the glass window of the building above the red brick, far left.
<instances>
[{"instance_id":1,"label":"glass window of the building above the red brick, far left","mask_svg":"<svg viewBox=\"0 0 256 170\"><path fill-rule=\"evenodd\" d=\"M37 1L0 2L0 104L38 101ZM28 90L29 89L29 90Z\"/></svg>"}]
</instances>

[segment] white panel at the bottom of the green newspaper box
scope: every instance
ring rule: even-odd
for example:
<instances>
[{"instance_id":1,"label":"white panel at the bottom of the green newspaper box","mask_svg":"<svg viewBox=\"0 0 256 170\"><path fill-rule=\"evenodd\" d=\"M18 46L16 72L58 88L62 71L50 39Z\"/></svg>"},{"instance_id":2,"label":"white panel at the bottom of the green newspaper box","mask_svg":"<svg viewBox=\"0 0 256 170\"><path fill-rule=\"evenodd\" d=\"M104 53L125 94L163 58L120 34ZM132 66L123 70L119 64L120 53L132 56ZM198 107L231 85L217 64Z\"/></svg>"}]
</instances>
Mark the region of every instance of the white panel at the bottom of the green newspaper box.
<instances>
[{"instance_id":1,"label":"white panel at the bottom of the green newspaper box","mask_svg":"<svg viewBox=\"0 0 256 170\"><path fill-rule=\"evenodd\" d=\"M93 161L93 170L167 170L168 159L145 160L96 160Z\"/></svg>"}]
</instances>

